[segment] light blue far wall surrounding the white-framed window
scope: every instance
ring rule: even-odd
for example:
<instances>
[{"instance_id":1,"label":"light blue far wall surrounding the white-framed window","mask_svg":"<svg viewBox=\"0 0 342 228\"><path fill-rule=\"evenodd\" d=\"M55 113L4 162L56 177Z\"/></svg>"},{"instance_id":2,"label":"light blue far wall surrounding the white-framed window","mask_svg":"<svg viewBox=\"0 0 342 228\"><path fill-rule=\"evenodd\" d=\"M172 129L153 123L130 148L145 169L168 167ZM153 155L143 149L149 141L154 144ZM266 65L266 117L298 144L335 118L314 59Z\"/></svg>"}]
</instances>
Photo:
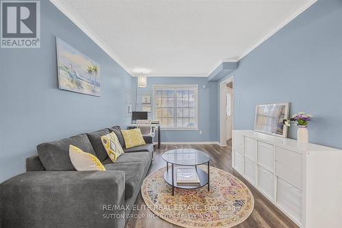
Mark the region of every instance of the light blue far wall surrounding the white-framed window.
<instances>
[{"instance_id":1,"label":"light blue far wall surrounding the white-framed window","mask_svg":"<svg viewBox=\"0 0 342 228\"><path fill-rule=\"evenodd\" d=\"M198 85L199 129L198 131L162 131L161 142L217 142L218 103L215 102L218 100L217 82L208 82L207 77L148 77L147 88L137 88L137 111L142 110L142 96L151 95L153 98L153 85L166 84ZM136 88L135 84L133 87ZM135 91L133 91L133 103L134 101ZM135 110L134 105L133 110ZM199 133L200 130L202 134Z\"/></svg>"}]
</instances>

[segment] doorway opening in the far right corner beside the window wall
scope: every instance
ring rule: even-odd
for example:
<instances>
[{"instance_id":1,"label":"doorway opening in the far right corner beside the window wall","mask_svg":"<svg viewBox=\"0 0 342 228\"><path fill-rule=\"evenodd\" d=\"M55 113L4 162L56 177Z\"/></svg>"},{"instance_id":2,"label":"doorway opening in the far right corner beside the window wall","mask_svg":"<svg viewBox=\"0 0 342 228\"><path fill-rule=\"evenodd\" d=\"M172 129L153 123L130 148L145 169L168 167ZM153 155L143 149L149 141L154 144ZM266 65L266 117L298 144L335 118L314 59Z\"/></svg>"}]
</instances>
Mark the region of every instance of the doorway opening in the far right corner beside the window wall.
<instances>
[{"instance_id":1,"label":"doorway opening in the far right corner beside the window wall","mask_svg":"<svg viewBox=\"0 0 342 228\"><path fill-rule=\"evenodd\" d=\"M233 76L220 83L220 145L226 146L233 136Z\"/></svg>"}]
</instances>

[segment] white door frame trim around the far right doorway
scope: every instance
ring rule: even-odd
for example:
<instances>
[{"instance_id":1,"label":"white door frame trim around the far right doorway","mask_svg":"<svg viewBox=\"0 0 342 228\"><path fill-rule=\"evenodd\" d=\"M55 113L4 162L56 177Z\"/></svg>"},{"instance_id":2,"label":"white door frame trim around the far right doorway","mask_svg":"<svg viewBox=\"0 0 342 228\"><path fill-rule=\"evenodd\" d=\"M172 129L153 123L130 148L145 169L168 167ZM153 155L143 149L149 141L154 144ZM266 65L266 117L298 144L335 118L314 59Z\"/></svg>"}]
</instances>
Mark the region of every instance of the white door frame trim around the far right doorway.
<instances>
[{"instance_id":1,"label":"white door frame trim around the far right doorway","mask_svg":"<svg viewBox=\"0 0 342 228\"><path fill-rule=\"evenodd\" d=\"M219 123L220 123L220 141L219 141L219 143L220 143L220 146L221 147L226 147L226 144L227 144L227 142L226 142L226 134L225 134L225 130L224 130L224 127L226 127L226 126L224 126L223 127L223 123L222 123L222 113L223 113L223 111L226 109L226 107L224 106L224 107L222 107L222 99L224 99L224 97L222 97L221 96L221 94L222 94L222 85L223 84L227 84L227 83L229 83L229 82L233 82L233 93L232 93L232 100L233 100L233 102L231 103L231 105L232 105L232 109L233 109L233 112L232 112L232 129L234 129L234 111L235 111L235 109L234 109L234 94L235 94L235 86L234 86L234 75L232 75L231 77L228 77L227 79L224 79L224 81L221 81L220 82L220 94L219 94L219 97L220 97L220 99L219 99L219 106L220 106L220 120L219 120Z\"/></svg>"}]
</instances>

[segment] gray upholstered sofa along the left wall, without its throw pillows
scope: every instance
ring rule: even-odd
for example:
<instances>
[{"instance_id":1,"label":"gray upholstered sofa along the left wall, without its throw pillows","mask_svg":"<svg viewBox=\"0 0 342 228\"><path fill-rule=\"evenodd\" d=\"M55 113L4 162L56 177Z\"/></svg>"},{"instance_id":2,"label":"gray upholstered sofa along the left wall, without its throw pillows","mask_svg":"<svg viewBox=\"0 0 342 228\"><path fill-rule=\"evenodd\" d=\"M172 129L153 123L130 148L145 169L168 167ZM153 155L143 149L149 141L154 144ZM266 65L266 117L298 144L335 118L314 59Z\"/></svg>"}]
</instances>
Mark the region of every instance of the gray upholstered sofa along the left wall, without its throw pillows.
<instances>
[{"instance_id":1,"label":"gray upholstered sofa along the left wall, without its throw pillows","mask_svg":"<svg viewBox=\"0 0 342 228\"><path fill-rule=\"evenodd\" d=\"M100 138L110 131L125 152L114 163ZM0 184L0 227L124 227L153 160L153 140L144 140L126 149L116 126L39 144L27 173ZM76 171L69 144L96 155L106 171Z\"/></svg>"}]
</instances>

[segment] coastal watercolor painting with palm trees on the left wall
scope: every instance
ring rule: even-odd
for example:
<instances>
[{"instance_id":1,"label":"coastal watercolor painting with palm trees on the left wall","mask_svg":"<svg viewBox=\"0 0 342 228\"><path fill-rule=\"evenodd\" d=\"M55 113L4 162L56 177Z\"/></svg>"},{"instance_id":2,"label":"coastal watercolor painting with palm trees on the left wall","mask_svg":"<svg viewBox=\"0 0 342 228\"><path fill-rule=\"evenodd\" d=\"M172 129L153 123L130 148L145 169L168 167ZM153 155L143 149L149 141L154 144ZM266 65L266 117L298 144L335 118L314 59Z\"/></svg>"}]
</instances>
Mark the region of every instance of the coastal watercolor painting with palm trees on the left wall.
<instances>
[{"instance_id":1,"label":"coastal watercolor painting with palm trees on the left wall","mask_svg":"<svg viewBox=\"0 0 342 228\"><path fill-rule=\"evenodd\" d=\"M56 38L58 85L68 90L100 97L100 66L94 60Z\"/></svg>"}]
</instances>

